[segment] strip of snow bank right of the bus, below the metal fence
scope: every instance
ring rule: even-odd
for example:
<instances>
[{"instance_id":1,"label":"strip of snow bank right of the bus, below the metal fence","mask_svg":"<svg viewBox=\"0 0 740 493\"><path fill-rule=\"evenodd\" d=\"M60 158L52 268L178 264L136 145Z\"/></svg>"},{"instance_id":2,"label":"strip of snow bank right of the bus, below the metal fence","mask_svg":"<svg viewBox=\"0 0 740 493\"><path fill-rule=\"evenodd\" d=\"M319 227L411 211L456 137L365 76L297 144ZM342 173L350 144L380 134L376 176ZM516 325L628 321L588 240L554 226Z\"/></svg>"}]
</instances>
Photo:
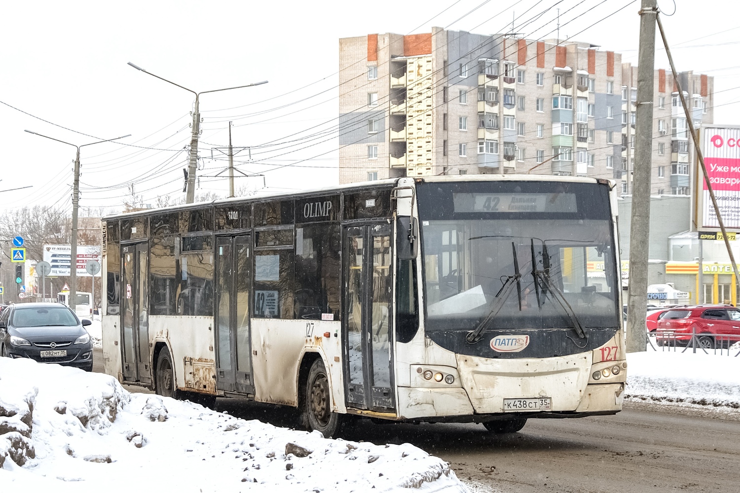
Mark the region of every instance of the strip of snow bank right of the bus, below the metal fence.
<instances>
[{"instance_id":1,"label":"strip of snow bank right of the bus, below the metal fence","mask_svg":"<svg viewBox=\"0 0 740 493\"><path fill-rule=\"evenodd\" d=\"M740 357L690 351L628 353L625 398L740 409Z\"/></svg>"}]
</instances>

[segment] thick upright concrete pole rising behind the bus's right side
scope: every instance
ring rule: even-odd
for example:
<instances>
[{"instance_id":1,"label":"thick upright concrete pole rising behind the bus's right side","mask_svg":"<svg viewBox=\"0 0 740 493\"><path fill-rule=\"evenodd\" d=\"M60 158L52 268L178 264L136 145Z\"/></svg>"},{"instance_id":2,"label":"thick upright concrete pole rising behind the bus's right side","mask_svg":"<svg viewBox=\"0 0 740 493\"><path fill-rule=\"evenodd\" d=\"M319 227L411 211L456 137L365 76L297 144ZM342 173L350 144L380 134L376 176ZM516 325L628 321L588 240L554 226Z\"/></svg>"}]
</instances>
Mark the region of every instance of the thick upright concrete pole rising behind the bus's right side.
<instances>
[{"instance_id":1,"label":"thick upright concrete pole rising behind the bus's right side","mask_svg":"<svg viewBox=\"0 0 740 493\"><path fill-rule=\"evenodd\" d=\"M627 302L627 351L645 351L647 259L650 247L650 174L653 154L656 0L642 0L637 68L635 166L630 222L630 288ZM629 145L629 143L628 143ZM628 177L629 179L629 177Z\"/></svg>"}]
</instances>

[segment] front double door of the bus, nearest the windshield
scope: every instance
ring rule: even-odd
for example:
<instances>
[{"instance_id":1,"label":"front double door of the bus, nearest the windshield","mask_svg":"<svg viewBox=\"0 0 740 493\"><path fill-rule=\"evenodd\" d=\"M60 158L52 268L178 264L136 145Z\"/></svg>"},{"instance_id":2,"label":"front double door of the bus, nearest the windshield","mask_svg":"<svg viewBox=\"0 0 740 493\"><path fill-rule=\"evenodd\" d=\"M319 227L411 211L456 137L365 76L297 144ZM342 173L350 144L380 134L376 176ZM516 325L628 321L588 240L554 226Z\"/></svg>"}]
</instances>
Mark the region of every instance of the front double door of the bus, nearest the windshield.
<instances>
[{"instance_id":1,"label":"front double door of the bus, nearest the windshield","mask_svg":"<svg viewBox=\"0 0 740 493\"><path fill-rule=\"evenodd\" d=\"M347 407L395 409L391 373L391 226L344 229L343 352Z\"/></svg>"}]
</instances>

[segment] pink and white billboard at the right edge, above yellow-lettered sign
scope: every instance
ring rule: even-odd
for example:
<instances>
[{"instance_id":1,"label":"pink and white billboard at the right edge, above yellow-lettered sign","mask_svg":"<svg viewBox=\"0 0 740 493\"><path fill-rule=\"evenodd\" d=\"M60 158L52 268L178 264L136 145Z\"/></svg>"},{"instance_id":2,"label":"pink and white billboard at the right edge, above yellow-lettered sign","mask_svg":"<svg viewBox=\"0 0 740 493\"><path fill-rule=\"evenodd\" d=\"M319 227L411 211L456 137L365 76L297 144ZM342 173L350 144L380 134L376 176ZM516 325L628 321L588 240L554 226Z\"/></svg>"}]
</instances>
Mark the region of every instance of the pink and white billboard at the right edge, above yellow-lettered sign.
<instances>
[{"instance_id":1,"label":"pink and white billboard at the right edge, above yellow-lettered sign","mask_svg":"<svg viewBox=\"0 0 740 493\"><path fill-rule=\"evenodd\" d=\"M719 214L727 229L740 230L740 126L702 126L704 166L707 168ZM706 180L696 159L695 225L699 231L719 228Z\"/></svg>"}]
</instances>

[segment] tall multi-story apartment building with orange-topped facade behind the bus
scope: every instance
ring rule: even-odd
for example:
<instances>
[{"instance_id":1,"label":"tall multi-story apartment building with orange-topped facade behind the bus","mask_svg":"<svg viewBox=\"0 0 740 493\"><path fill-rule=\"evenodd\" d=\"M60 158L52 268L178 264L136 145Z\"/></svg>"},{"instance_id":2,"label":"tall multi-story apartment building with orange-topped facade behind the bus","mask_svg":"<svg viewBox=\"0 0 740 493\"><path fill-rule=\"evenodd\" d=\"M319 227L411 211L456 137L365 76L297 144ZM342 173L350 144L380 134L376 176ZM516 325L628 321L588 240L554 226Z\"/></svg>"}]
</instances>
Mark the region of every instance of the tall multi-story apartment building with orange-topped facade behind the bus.
<instances>
[{"instance_id":1,"label":"tall multi-story apartment building with orange-topped facade behind the bus","mask_svg":"<svg viewBox=\"0 0 740 493\"><path fill-rule=\"evenodd\" d=\"M631 191L637 69L591 44L432 28L340 39L340 183L531 173L608 177ZM696 124L713 78L679 74ZM656 70L653 193L689 186L673 75Z\"/></svg>"}]
</instances>

